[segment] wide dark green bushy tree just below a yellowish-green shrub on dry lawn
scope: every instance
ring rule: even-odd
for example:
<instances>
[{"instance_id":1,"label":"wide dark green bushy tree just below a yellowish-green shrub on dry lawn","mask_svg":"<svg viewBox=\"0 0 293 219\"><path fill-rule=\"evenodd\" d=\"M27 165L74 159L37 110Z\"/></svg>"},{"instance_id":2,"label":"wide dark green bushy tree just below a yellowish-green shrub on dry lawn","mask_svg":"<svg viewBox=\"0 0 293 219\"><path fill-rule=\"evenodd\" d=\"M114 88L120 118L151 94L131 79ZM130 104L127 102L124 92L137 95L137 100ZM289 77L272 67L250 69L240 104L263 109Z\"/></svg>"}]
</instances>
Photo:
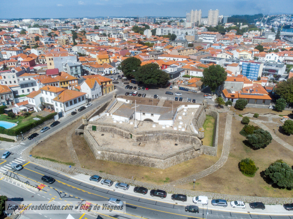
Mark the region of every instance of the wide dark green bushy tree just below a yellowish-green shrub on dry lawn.
<instances>
[{"instance_id":1,"label":"wide dark green bushy tree just below a yellowish-green shrub on dry lawn","mask_svg":"<svg viewBox=\"0 0 293 219\"><path fill-rule=\"evenodd\" d=\"M253 134L247 135L246 139L252 147L258 149L265 147L272 142L272 135L262 128L253 131Z\"/></svg>"}]
</instances>

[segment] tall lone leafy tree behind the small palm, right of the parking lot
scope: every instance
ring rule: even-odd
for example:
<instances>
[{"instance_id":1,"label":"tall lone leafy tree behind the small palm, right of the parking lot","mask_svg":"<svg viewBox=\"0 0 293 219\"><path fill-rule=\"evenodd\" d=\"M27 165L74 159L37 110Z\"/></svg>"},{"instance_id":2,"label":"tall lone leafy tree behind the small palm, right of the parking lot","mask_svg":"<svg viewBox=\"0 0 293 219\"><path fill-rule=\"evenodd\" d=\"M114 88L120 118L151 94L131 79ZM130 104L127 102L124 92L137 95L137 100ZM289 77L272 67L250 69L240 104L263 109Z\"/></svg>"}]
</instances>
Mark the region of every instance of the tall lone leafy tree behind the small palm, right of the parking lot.
<instances>
[{"instance_id":1,"label":"tall lone leafy tree behind the small palm, right of the parking lot","mask_svg":"<svg viewBox=\"0 0 293 219\"><path fill-rule=\"evenodd\" d=\"M202 72L203 84L209 86L214 92L223 82L227 79L227 73L225 69L220 65L211 65Z\"/></svg>"}]
</instances>

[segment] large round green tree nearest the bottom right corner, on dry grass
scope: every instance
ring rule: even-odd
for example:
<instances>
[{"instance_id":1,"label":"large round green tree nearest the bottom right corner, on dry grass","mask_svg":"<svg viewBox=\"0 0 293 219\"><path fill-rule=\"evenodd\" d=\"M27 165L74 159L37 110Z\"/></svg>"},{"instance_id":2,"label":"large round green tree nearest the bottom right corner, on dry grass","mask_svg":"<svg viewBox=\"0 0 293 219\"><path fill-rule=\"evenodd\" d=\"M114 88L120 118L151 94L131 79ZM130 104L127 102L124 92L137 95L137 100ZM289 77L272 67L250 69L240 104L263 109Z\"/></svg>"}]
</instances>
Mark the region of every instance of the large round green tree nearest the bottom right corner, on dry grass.
<instances>
[{"instance_id":1,"label":"large round green tree nearest the bottom right corner, on dry grass","mask_svg":"<svg viewBox=\"0 0 293 219\"><path fill-rule=\"evenodd\" d=\"M281 162L280 162L281 161ZM277 160L265 169L265 175L280 187L293 189L293 170L288 164Z\"/></svg>"}]
</instances>

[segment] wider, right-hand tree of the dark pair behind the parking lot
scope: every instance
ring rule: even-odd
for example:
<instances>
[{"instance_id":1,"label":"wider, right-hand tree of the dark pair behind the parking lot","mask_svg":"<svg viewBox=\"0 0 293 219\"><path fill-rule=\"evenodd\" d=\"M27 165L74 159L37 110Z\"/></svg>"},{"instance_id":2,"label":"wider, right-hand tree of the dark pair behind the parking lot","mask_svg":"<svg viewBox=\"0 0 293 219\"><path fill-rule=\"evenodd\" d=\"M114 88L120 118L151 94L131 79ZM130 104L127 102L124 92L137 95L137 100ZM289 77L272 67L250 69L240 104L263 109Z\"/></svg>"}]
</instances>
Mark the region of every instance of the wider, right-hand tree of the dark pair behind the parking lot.
<instances>
[{"instance_id":1,"label":"wider, right-hand tree of the dark pair behind the parking lot","mask_svg":"<svg viewBox=\"0 0 293 219\"><path fill-rule=\"evenodd\" d=\"M169 74L162 71L159 65L149 63L139 67L134 73L134 78L137 81L142 81L144 84L166 84L169 81Z\"/></svg>"}]
</instances>

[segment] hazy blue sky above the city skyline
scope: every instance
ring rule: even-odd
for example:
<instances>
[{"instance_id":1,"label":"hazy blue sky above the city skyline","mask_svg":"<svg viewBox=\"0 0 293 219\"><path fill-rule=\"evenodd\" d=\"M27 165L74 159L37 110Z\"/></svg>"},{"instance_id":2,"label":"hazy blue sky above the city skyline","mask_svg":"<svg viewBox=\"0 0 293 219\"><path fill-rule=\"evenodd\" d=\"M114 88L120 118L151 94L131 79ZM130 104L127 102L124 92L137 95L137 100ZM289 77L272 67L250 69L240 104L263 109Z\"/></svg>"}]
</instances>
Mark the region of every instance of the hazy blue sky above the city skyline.
<instances>
[{"instance_id":1,"label":"hazy blue sky above the city skyline","mask_svg":"<svg viewBox=\"0 0 293 219\"><path fill-rule=\"evenodd\" d=\"M180 16L190 10L219 15L293 13L293 0L1 0L0 18Z\"/></svg>"}]
</instances>

